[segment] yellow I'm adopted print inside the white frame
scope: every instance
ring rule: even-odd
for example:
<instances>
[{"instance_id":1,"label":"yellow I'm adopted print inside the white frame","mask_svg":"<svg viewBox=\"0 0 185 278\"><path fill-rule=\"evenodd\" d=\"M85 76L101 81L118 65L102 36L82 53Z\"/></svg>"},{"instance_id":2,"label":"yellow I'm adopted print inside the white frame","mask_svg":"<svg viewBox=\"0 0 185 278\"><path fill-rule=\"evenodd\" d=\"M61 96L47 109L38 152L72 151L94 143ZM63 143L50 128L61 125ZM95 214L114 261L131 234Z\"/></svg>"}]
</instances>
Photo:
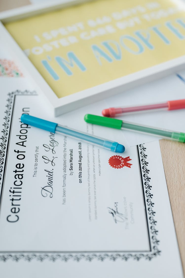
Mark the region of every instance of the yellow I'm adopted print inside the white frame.
<instances>
[{"instance_id":1,"label":"yellow I'm adopted print inside the white frame","mask_svg":"<svg viewBox=\"0 0 185 278\"><path fill-rule=\"evenodd\" d=\"M58 98L185 54L178 0L92 1L5 27Z\"/></svg>"}]
</instances>

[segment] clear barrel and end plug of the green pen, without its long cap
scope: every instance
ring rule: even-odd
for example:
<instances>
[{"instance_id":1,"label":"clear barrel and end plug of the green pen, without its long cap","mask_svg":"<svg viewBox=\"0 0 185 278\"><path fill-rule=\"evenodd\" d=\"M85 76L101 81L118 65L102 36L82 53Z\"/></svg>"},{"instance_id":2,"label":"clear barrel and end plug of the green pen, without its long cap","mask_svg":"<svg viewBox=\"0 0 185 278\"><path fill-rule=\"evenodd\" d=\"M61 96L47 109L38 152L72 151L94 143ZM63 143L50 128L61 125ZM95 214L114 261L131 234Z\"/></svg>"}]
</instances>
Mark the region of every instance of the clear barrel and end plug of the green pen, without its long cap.
<instances>
[{"instance_id":1,"label":"clear barrel and end plug of the green pen, without its long cap","mask_svg":"<svg viewBox=\"0 0 185 278\"><path fill-rule=\"evenodd\" d=\"M146 134L152 134L152 135L166 138L168 140L170 139L173 141L178 141L181 143L185 142L185 133L183 133L183 132L177 132L177 131L171 131L171 130L165 130L165 129L157 129L153 126L133 124L133 123L126 122L126 121L122 122L121 129L133 130L133 131L138 131L138 132L146 133Z\"/></svg>"}]
</instances>

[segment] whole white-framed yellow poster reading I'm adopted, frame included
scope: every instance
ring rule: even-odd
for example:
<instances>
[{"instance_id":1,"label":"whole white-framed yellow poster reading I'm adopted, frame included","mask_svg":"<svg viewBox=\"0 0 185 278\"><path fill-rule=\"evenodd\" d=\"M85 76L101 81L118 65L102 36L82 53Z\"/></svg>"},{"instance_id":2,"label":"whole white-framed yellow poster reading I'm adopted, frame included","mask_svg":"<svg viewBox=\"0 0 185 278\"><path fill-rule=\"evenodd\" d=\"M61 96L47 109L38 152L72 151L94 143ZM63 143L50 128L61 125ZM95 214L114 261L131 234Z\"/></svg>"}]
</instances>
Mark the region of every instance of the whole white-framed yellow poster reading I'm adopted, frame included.
<instances>
[{"instance_id":1,"label":"whole white-framed yellow poster reading I'm adopted, frame included","mask_svg":"<svg viewBox=\"0 0 185 278\"><path fill-rule=\"evenodd\" d=\"M60 1L0 19L56 116L185 67L181 0Z\"/></svg>"}]
</instances>

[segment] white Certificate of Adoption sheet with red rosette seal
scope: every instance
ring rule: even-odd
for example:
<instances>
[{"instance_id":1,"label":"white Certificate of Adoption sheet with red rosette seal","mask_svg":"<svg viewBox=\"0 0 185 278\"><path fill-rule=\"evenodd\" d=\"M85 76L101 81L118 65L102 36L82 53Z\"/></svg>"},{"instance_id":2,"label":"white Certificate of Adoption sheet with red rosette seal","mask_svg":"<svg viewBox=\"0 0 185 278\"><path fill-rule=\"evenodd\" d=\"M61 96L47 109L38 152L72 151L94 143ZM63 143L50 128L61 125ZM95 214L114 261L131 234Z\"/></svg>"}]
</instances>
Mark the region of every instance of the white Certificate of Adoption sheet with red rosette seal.
<instances>
[{"instance_id":1,"label":"white Certificate of Adoption sheet with red rosette seal","mask_svg":"<svg viewBox=\"0 0 185 278\"><path fill-rule=\"evenodd\" d=\"M51 118L40 103L35 91L1 94L1 277L183 277L159 142L127 147L119 131ZM23 113L126 151L28 126Z\"/></svg>"}]
</instances>

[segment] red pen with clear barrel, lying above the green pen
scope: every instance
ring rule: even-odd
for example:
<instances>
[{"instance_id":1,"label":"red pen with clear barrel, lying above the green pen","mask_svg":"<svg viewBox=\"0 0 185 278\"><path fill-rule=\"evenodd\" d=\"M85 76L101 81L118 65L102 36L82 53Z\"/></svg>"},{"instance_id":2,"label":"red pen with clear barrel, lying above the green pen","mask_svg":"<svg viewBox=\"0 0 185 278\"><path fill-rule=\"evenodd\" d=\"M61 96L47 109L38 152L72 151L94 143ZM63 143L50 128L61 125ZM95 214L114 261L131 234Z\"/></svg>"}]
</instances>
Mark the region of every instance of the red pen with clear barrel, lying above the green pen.
<instances>
[{"instance_id":1,"label":"red pen with clear barrel, lying above the green pen","mask_svg":"<svg viewBox=\"0 0 185 278\"><path fill-rule=\"evenodd\" d=\"M131 113L131 112L145 111L145 110L154 110L154 109L176 110L176 109L183 109L183 108L185 108L185 99L169 100L163 103L139 105L139 106L132 106L132 107L111 107L108 109L104 109L102 111L102 115L105 117L113 118L117 115Z\"/></svg>"}]
</instances>

